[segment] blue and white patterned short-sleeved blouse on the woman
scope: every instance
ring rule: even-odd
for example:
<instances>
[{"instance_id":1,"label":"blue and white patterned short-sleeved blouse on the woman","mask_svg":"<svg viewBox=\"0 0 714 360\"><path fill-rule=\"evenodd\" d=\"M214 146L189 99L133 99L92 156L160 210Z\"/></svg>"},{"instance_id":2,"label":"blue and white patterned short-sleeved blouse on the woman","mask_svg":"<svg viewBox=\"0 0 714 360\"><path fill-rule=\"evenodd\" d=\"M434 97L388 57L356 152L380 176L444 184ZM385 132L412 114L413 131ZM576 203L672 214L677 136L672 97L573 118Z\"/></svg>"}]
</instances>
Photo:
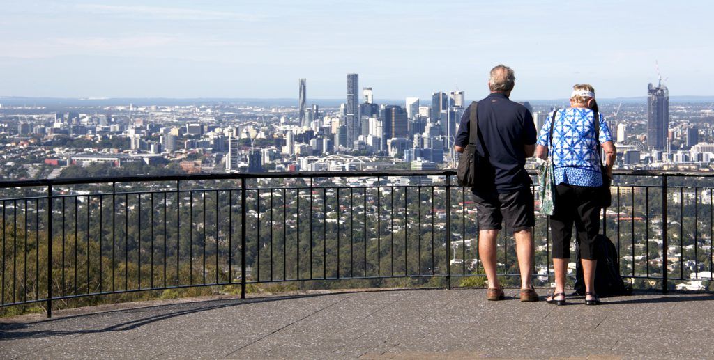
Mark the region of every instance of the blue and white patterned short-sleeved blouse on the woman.
<instances>
[{"instance_id":1,"label":"blue and white patterned short-sleeved blouse on the woman","mask_svg":"<svg viewBox=\"0 0 714 360\"><path fill-rule=\"evenodd\" d=\"M600 144L612 141L613 136L600 115ZM550 121L553 113L540 129L538 145L548 147L548 155L553 157L555 184L578 186L601 186L600 157L595 142L593 110L588 108L559 109L553 125L553 146L550 146Z\"/></svg>"}]
</instances>

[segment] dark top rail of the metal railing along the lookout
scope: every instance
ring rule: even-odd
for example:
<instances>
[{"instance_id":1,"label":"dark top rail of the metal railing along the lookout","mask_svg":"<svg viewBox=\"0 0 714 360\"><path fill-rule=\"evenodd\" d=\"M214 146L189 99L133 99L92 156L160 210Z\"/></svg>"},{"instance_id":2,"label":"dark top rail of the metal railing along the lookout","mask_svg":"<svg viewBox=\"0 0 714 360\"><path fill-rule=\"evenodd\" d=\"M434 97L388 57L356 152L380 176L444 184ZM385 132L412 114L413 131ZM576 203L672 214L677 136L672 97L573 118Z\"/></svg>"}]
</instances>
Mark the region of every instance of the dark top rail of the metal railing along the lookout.
<instances>
[{"instance_id":1,"label":"dark top rail of the metal railing along the lookout","mask_svg":"<svg viewBox=\"0 0 714 360\"><path fill-rule=\"evenodd\" d=\"M535 170L528 170L535 175ZM664 170L614 170L614 175L649 176L649 177L692 177L714 178L714 172L689 171L670 172ZM285 173L206 173L191 175L132 175L121 177L96 178L60 178L36 180L0 180L0 188L7 187L46 187L49 185L79 185L112 182L149 182L149 181L197 181L197 180L242 180L271 178L376 178L388 176L446 176L456 175L456 170L360 170L360 171L293 171Z\"/></svg>"}]
</instances>

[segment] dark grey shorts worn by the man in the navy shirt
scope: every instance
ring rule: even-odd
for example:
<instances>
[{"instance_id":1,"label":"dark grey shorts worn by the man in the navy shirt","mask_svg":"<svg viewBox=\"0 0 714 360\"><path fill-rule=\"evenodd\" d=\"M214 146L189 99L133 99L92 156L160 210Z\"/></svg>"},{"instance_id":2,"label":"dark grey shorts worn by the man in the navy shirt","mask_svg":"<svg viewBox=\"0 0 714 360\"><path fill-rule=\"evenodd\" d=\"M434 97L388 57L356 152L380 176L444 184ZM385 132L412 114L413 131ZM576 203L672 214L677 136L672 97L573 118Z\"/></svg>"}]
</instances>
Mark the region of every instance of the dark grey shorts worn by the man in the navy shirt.
<instances>
[{"instance_id":1,"label":"dark grey shorts worn by the man in the navy shirt","mask_svg":"<svg viewBox=\"0 0 714 360\"><path fill-rule=\"evenodd\" d=\"M474 192L473 201L476 202L478 230L501 230L503 220L511 232L531 230L535 226L533 193L528 187L503 194Z\"/></svg>"}]
</instances>

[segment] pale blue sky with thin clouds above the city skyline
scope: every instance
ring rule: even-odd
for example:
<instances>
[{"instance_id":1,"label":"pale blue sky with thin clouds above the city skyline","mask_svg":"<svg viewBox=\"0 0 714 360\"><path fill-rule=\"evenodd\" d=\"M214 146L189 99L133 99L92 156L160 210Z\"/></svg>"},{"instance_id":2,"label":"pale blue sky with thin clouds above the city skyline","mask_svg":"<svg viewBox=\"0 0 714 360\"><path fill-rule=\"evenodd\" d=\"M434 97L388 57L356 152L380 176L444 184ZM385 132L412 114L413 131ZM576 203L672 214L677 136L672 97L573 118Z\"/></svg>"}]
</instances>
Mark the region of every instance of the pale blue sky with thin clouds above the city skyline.
<instances>
[{"instance_id":1,"label":"pale blue sky with thin clouds above the city skyline","mask_svg":"<svg viewBox=\"0 0 714 360\"><path fill-rule=\"evenodd\" d=\"M670 96L712 96L714 1L0 0L0 96L645 96L658 63Z\"/></svg>"}]
</instances>

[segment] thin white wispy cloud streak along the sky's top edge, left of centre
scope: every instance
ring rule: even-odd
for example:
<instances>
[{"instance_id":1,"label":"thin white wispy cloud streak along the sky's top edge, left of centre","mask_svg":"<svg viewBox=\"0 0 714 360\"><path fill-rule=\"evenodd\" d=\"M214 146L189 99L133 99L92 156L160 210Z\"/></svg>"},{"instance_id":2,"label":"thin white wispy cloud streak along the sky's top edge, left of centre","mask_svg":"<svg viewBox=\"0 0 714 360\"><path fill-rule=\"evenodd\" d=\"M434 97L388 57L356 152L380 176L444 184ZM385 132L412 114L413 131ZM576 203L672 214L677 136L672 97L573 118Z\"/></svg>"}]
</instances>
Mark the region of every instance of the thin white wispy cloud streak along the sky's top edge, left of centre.
<instances>
[{"instance_id":1,"label":"thin white wispy cloud streak along the sky's top edge, left of centre","mask_svg":"<svg viewBox=\"0 0 714 360\"><path fill-rule=\"evenodd\" d=\"M237 20L260 21L265 16L256 14L240 14L231 11L207 11L196 9L183 9L164 6L126 6L103 4L77 4L77 9L92 14L107 14L121 17L151 19L151 20L184 20L184 21L211 21L211 20Z\"/></svg>"}]
</instances>

